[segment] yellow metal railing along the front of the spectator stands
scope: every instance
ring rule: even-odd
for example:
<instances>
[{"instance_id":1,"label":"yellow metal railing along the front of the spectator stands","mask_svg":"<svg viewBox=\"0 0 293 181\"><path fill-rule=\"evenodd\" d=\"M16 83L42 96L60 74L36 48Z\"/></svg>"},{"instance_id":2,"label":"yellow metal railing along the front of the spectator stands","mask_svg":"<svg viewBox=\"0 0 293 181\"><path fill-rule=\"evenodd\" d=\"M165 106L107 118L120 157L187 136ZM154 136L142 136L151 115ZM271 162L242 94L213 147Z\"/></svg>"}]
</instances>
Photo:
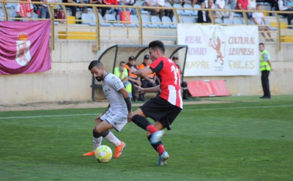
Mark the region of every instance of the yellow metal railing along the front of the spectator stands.
<instances>
[{"instance_id":1,"label":"yellow metal railing along the front of the spectator stands","mask_svg":"<svg viewBox=\"0 0 293 181\"><path fill-rule=\"evenodd\" d=\"M8 20L24 20L24 19L27 19L27 20L52 20L51 21L51 37L50 37L50 40L51 40L51 47L52 49L54 50L54 45L55 45L55 42L54 42L54 38L55 36L68 36L68 35L71 35L71 36L74 36L74 35L78 35L78 36L89 36L89 37L96 37L96 48L97 50L100 50L100 38L101 37L125 37L125 35L103 35L103 34L100 34L100 31L101 30L126 30L127 31L127 35L126 35L126 38L138 38L139 39L139 44L143 44L143 38L154 38L154 37L158 37L158 38L176 38L177 39L177 29L166 29L166 28L144 28L142 26L142 24L148 24L148 23L151 23L151 24L178 24L179 21L179 16L178 16L178 13L176 10L201 10L201 11L208 11L209 14L211 15L211 23L205 23L205 24L215 24L215 18L214 18L214 11L226 11L226 12L234 12L234 13L242 13L242 16L245 20L245 24L246 25L249 25L249 20L247 18L247 15L246 13L247 12L250 12L250 13L253 13L253 12L263 12L263 13L274 13L275 14L275 18L276 18L276 21L277 21L277 30L269 30L269 31L259 31L259 32L264 32L264 33L276 33L276 38L272 38L272 39L276 39L277 41L277 50L280 51L281 50L281 33L292 33L293 34L293 31L288 31L287 29L282 29L282 27L293 27L292 25L281 25L281 22L280 22L280 18L279 18L279 15L282 15L282 14L288 14L288 13L293 13L292 11L266 11L266 10L261 10L261 11L255 11L255 10L236 10L236 9L196 9L196 8L174 8L174 7L149 7L149 6L115 6L115 5L102 5L102 4L74 4L74 3L43 3L43 2L28 2L28 1L4 1L4 0L0 0L0 3L2 5L2 9L3 9L3 12L4 12L4 17L0 17L0 19L4 19L6 21ZM42 18L15 18L15 17L8 17L8 13L7 13L7 9L6 9L6 6L5 6L5 3L24 3L24 4L47 4L47 7L48 7L48 11L49 11L49 15L50 15L50 18L48 19L42 19ZM56 5L59 5L61 6L62 10L64 11L64 14L65 14L65 19L56 19L54 18L54 10L53 10L53 7L52 6L56 6ZM81 7L91 7L93 9L93 13L94 13L94 16L96 17L96 20L79 20L79 19L68 19L67 18L67 9L65 6L81 6ZM125 17L127 17L127 13L126 13L126 8L130 8L130 9L135 9L136 12L137 12L137 17L139 19L138 22L135 22L135 21L129 21L128 18L126 18L126 21L104 21L104 20L101 20L98 16L98 10L97 8L101 8L101 7L112 7L112 8L122 8L123 9L123 12L125 13ZM144 22L142 21L142 17L141 17L141 13L140 13L140 9L163 9L163 10L172 10L173 13L174 13L174 16L177 20L177 22L172 22L172 23L167 23L167 22ZM64 26L63 25L60 25L60 26L55 26L54 25L54 21L60 21L60 22L64 22ZM86 21L86 22L95 22L95 26L70 26L69 25L69 21L74 21L75 23L76 22L82 22L82 21ZM107 23L125 23L126 24L126 27L123 27L123 28L117 28L117 27L101 27L100 26L100 23L103 23L103 22L107 22ZM129 26L129 23L138 23L139 24L139 27L130 27ZM220 25L223 25L223 26L233 26L233 25L239 25L239 24L224 24L224 23L220 23ZM256 26L270 26L270 25L256 25ZM56 29L65 29L65 34L59 34L59 33L55 33L55 30ZM69 29L86 29L86 30L95 30L96 31L96 34L94 35L88 35L88 34L72 34L72 33L68 33ZM131 30L137 30L139 31L138 35L131 35L130 34L130 31ZM144 31L175 31L176 32L176 35L175 36L172 36L172 35L159 35L159 36L156 36L156 35L143 35L143 32ZM260 37L260 39L264 39L263 37ZM287 37L287 39L293 39L293 38L290 38L290 37Z\"/></svg>"}]
</instances>

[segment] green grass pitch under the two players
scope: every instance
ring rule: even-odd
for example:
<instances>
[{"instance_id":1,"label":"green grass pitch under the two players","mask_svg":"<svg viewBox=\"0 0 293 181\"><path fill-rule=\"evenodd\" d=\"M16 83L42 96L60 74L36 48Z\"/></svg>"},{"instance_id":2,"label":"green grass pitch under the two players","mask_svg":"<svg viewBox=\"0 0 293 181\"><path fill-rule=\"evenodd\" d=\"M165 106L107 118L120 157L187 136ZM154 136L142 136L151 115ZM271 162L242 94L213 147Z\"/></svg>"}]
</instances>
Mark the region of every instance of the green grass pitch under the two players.
<instances>
[{"instance_id":1,"label":"green grass pitch under the two players","mask_svg":"<svg viewBox=\"0 0 293 181\"><path fill-rule=\"evenodd\" d=\"M120 158L82 156L104 108L0 112L0 180L293 180L293 96L205 99L233 102L184 106L162 167L133 123L113 131L127 144Z\"/></svg>"}]
</instances>

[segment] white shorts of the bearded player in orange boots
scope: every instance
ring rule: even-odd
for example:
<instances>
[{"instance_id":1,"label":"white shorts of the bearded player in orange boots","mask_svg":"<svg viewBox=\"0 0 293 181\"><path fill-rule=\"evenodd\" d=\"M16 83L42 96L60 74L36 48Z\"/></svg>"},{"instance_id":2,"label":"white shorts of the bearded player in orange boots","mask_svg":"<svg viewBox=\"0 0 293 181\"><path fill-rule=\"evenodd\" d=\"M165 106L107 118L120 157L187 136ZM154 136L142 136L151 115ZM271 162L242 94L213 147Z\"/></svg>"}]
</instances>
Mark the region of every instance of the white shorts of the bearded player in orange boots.
<instances>
[{"instance_id":1,"label":"white shorts of the bearded player in orange boots","mask_svg":"<svg viewBox=\"0 0 293 181\"><path fill-rule=\"evenodd\" d=\"M101 121L107 121L109 124L111 124L116 131L121 131L122 128L127 123L127 115L118 115L115 113L110 113L110 111L107 111L101 118Z\"/></svg>"}]
</instances>

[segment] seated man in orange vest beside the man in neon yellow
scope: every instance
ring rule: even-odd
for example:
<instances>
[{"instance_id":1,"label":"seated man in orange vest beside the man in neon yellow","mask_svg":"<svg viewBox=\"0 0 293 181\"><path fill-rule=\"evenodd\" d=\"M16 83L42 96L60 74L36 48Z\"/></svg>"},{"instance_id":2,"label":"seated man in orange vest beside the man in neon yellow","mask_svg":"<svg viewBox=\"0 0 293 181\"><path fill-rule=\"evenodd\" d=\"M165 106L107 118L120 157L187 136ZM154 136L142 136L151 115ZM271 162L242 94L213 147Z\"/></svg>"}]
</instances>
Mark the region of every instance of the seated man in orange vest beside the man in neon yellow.
<instances>
[{"instance_id":1,"label":"seated man in orange vest beside the man in neon yellow","mask_svg":"<svg viewBox=\"0 0 293 181\"><path fill-rule=\"evenodd\" d=\"M136 88L134 87L134 84L141 85L142 83L140 82L140 77L137 77L137 75L133 74L130 72L130 67L134 67L136 70L138 70L137 66L135 65L135 58L134 56L130 56L128 58L128 63L125 65L125 68L127 68L128 71L128 81L132 85L132 98L133 102L137 101L136 97Z\"/></svg>"}]
</instances>

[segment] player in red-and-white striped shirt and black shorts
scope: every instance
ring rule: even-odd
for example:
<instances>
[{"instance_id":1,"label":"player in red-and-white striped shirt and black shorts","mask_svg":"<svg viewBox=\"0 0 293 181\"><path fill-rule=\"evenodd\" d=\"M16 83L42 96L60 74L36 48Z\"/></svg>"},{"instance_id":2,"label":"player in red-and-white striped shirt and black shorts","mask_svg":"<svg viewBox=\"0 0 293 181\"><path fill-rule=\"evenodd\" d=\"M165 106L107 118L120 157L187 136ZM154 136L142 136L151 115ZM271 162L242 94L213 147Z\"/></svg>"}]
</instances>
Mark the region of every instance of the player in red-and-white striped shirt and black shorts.
<instances>
[{"instance_id":1,"label":"player in red-and-white striped shirt and black shorts","mask_svg":"<svg viewBox=\"0 0 293 181\"><path fill-rule=\"evenodd\" d=\"M137 126L148 131L147 137L151 142L151 146L159 152L158 165L166 165L169 159L168 153L165 151L161 141L164 131L167 128L170 130L170 125L182 110L180 75L178 68L174 62L164 57L165 46L159 41L149 43L149 55L151 56L152 64L144 69L136 70L131 68L130 71L140 77L148 76L154 72L159 77L161 84L156 87L141 88L140 91L145 92L160 92L158 96L150 99L144 105L137 109L133 116L132 122ZM147 117L150 117L155 122L151 124Z\"/></svg>"}]
</instances>

